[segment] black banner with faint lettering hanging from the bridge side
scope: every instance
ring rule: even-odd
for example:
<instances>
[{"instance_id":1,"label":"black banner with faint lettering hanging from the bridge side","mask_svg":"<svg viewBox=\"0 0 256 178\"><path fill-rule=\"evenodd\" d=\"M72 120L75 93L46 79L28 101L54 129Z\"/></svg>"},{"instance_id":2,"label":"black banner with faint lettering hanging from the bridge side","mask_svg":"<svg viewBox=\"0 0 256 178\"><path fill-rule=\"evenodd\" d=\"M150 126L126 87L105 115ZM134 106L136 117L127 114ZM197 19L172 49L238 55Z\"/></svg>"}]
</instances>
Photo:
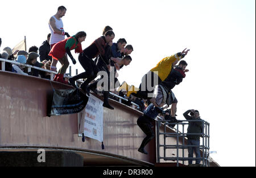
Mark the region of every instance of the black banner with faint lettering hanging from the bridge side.
<instances>
[{"instance_id":1,"label":"black banner with faint lettering hanging from the bridge side","mask_svg":"<svg viewBox=\"0 0 256 178\"><path fill-rule=\"evenodd\" d=\"M88 97L79 89L53 90L51 109L48 110L48 117L51 115L74 114L84 109Z\"/></svg>"}]
</instances>

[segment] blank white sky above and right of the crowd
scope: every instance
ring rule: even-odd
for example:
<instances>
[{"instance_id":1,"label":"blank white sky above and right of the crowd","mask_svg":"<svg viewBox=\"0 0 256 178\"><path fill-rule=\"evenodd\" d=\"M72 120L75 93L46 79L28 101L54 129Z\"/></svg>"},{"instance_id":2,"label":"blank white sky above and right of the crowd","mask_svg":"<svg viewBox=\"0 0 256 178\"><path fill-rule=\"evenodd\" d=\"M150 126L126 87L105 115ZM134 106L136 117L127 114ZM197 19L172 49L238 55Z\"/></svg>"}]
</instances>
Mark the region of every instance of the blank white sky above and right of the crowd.
<instances>
[{"instance_id":1,"label":"blank white sky above and right of the crowd","mask_svg":"<svg viewBox=\"0 0 256 178\"><path fill-rule=\"evenodd\" d=\"M120 82L139 86L163 57L191 49L184 58L187 77L174 88L177 118L199 110L210 122L210 150L217 151L211 157L221 166L255 166L254 0L3 1L0 50L24 36L27 48L39 47L61 5L67 7L64 30L87 34L83 49L106 25L115 32L114 42L125 38L133 45L133 61L119 72ZM72 69L84 71L78 60Z\"/></svg>"}]
</instances>

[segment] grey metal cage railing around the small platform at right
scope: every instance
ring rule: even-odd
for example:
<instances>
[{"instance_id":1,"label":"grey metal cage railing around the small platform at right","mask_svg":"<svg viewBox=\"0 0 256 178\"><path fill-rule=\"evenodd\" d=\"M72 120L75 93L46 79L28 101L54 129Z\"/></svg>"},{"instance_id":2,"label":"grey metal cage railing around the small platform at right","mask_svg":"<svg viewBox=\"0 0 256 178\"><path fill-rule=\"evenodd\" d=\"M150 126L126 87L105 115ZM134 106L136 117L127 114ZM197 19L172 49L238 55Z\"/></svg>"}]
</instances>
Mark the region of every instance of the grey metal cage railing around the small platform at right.
<instances>
[{"instance_id":1,"label":"grey metal cage railing around the small platform at right","mask_svg":"<svg viewBox=\"0 0 256 178\"><path fill-rule=\"evenodd\" d=\"M189 125L189 122L202 122L204 129L203 133L184 133L184 127L185 125ZM168 128L168 125L170 124L176 124L177 129L171 130ZM181 126L182 132L179 131L179 128ZM176 161L177 167L179 167L179 163L182 162L182 164L185 164L185 161L188 160L196 160L196 158L189 158L188 156L185 156L185 150L188 149L188 147L198 147L200 149L200 162L203 167L209 167L209 126L210 124L204 120L182 120L181 123L170 123L168 120L158 120L156 121L156 152L157 152L157 162L160 163L160 160L165 161ZM160 132L160 127L163 127L163 132ZM173 132L168 132L168 131ZM160 139L160 135L163 135L163 139ZM187 139L185 137L187 135L200 135L203 137L203 142L200 143L199 146L195 145L188 145L185 144ZM176 144L167 144L168 138L174 138L176 140ZM160 143L160 140L163 140L163 143ZM163 154L160 155L160 149L162 148ZM174 154L170 156L170 149L176 150L176 156ZM181 150L181 152L180 152ZM169 152L168 152L169 151Z\"/></svg>"}]
</instances>

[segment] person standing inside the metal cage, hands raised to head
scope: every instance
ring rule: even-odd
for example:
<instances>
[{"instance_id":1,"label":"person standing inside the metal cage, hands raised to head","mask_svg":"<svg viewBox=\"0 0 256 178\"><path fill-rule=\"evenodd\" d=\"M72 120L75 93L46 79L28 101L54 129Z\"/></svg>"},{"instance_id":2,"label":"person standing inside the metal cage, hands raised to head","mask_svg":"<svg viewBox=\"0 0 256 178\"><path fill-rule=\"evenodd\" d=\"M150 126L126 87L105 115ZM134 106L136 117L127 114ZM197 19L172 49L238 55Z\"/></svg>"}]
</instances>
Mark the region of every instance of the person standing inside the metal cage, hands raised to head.
<instances>
[{"instance_id":1,"label":"person standing inside the metal cage, hands raised to head","mask_svg":"<svg viewBox=\"0 0 256 178\"><path fill-rule=\"evenodd\" d=\"M190 113L190 115L188 115ZM187 110L183 114L185 119L188 121L199 120L199 122L189 122L187 131L187 144L192 147L188 147L188 158L193 158L193 150L196 152L196 164L200 164L200 133L204 132L203 120L200 118L198 110ZM199 134L199 135L189 135L189 134ZM189 159L188 164L192 164L193 160Z\"/></svg>"}]
</instances>

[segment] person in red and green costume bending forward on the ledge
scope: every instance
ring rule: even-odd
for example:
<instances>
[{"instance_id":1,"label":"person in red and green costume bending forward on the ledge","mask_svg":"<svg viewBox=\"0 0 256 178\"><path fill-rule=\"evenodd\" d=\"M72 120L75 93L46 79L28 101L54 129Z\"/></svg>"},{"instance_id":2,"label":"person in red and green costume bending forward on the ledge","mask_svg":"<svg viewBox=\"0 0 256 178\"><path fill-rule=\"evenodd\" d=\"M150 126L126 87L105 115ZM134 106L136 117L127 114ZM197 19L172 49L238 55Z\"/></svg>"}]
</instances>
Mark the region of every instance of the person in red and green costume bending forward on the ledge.
<instances>
[{"instance_id":1,"label":"person in red and green costume bending forward on the ledge","mask_svg":"<svg viewBox=\"0 0 256 178\"><path fill-rule=\"evenodd\" d=\"M58 74L53 78L53 81L59 81L64 84L68 84L63 77L64 73L67 71L69 66L68 58L65 53L71 58L73 64L76 64L76 60L71 54L71 50L75 49L76 53L82 52L82 45L81 43L84 42L86 38L86 33L84 31L77 32L76 35L71 36L67 39L64 39L58 43L56 43L51 51L49 52L49 56L52 56L53 59L59 60L61 63L61 68L59 69Z\"/></svg>"}]
</instances>

